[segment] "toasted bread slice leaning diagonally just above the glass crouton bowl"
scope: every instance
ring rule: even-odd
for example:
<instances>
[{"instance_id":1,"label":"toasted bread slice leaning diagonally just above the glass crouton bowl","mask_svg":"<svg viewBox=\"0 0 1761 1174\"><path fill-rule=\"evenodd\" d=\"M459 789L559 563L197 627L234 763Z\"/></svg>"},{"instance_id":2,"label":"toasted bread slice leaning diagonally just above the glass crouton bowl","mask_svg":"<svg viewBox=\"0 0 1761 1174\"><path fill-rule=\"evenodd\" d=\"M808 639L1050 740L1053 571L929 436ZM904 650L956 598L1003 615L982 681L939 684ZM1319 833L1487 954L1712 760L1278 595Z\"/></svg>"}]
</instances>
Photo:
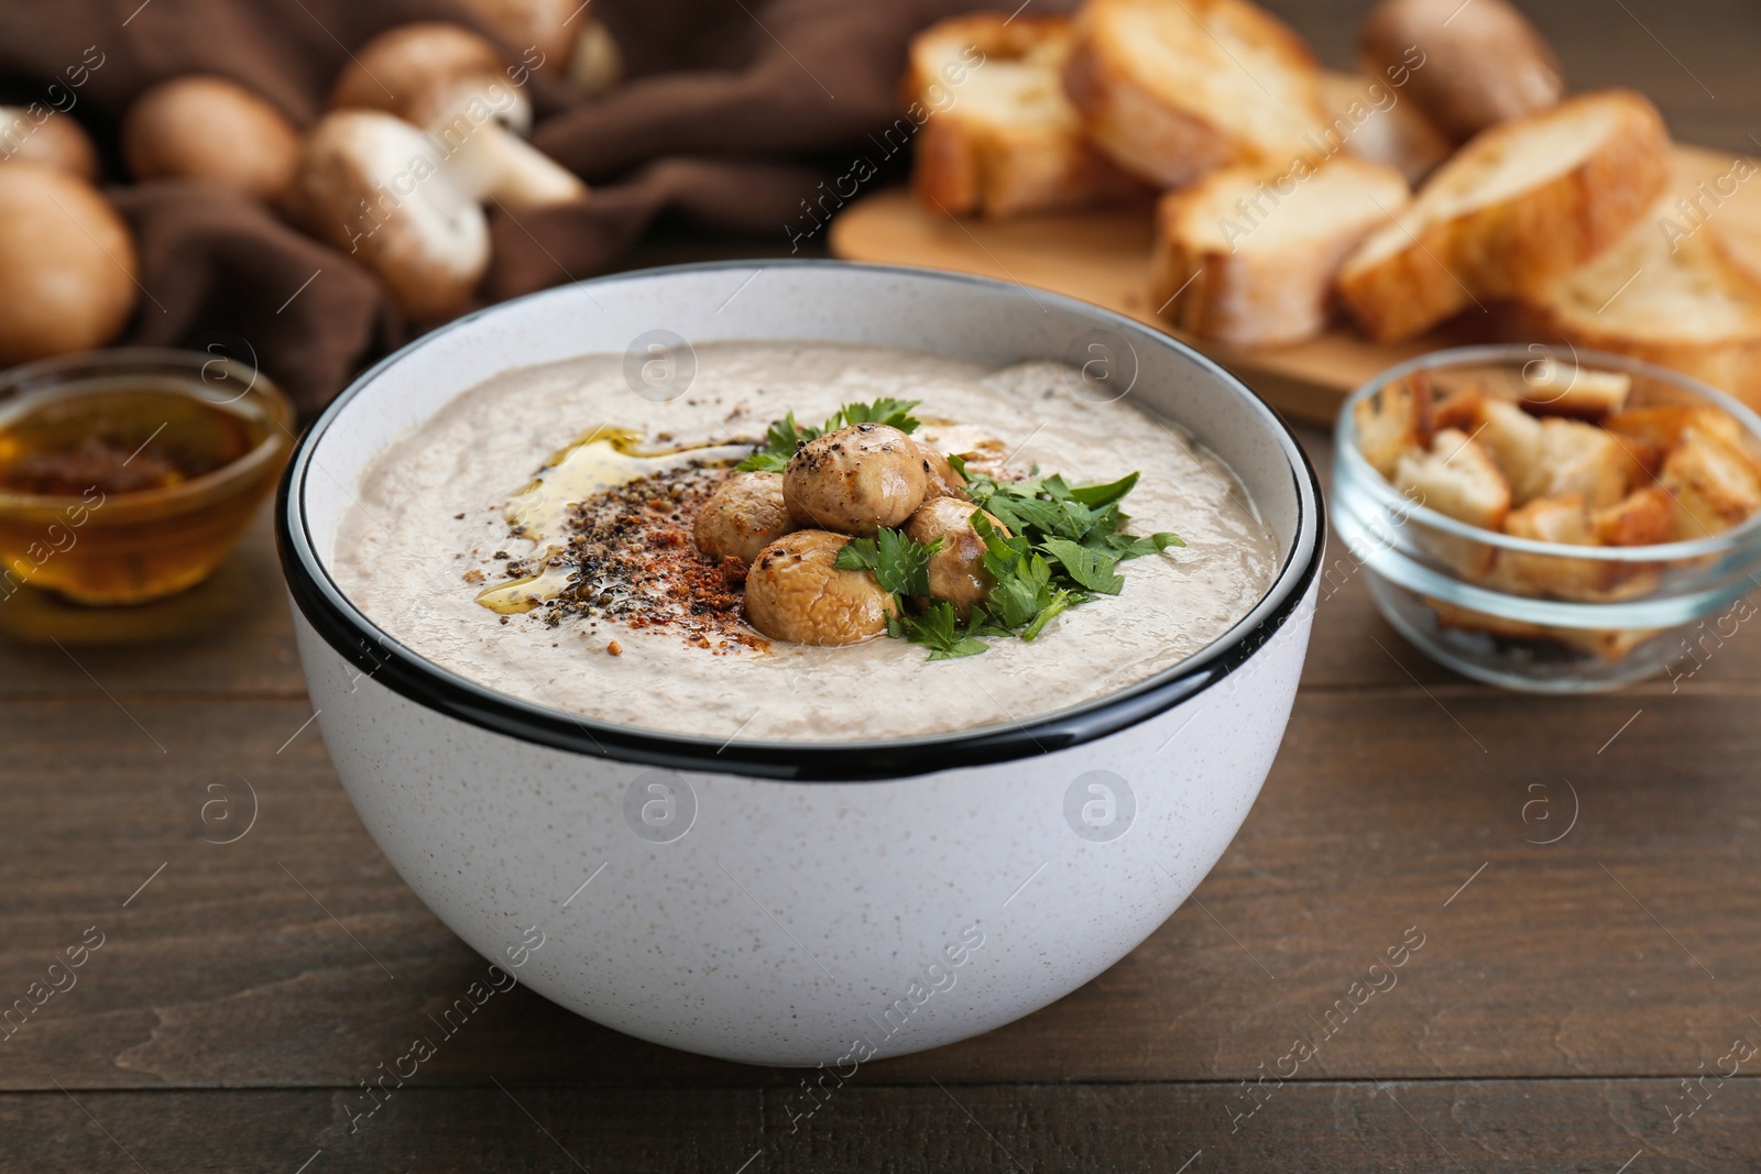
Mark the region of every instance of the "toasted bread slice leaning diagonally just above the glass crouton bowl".
<instances>
[{"instance_id":1,"label":"toasted bread slice leaning diagonally just above the glass crouton bowl","mask_svg":"<svg viewBox=\"0 0 1761 1174\"><path fill-rule=\"evenodd\" d=\"M1409 338L1583 264L1645 215L1668 178L1669 136L1643 95L1571 99L1456 151L1345 260L1340 292L1370 338Z\"/></svg>"}]
</instances>

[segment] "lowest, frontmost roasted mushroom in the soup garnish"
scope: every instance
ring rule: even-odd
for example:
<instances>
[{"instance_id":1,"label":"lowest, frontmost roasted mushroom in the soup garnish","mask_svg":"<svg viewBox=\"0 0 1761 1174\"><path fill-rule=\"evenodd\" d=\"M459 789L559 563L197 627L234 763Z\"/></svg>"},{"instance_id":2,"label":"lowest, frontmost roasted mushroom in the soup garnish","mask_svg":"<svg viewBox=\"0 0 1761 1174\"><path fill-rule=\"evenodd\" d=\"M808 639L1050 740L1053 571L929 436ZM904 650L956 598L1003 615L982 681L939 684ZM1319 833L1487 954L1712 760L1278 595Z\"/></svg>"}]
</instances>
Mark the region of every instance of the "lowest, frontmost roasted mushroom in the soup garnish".
<instances>
[{"instance_id":1,"label":"lowest, frontmost roasted mushroom in the soup garnish","mask_svg":"<svg viewBox=\"0 0 1761 1174\"><path fill-rule=\"evenodd\" d=\"M842 533L796 530L766 546L747 572L752 627L792 644L859 644L886 632L898 604L866 570L833 567L845 542Z\"/></svg>"}]
</instances>

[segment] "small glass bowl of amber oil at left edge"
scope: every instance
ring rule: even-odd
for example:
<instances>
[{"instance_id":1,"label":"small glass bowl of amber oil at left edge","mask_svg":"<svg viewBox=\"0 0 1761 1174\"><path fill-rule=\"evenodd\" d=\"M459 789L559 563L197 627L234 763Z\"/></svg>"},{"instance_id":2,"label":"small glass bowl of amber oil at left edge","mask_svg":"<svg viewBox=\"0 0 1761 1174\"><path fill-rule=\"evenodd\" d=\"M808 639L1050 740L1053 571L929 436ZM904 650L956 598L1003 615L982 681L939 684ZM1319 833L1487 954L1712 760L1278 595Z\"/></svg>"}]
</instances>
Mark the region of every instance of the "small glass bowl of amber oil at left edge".
<instances>
[{"instance_id":1,"label":"small glass bowl of amber oil at left edge","mask_svg":"<svg viewBox=\"0 0 1761 1174\"><path fill-rule=\"evenodd\" d=\"M294 444L273 382L195 350L60 356L0 375L0 607L93 605L195 586Z\"/></svg>"}]
</instances>

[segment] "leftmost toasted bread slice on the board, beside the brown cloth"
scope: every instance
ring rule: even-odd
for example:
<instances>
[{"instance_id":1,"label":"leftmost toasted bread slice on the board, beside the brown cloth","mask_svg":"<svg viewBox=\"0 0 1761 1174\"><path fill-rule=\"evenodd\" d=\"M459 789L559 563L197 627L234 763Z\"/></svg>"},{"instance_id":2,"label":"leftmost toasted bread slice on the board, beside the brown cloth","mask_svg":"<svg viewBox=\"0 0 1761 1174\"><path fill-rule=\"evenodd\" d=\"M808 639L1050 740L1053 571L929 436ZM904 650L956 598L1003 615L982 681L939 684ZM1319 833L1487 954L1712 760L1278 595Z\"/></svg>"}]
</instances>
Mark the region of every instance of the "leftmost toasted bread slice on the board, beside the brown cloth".
<instances>
[{"instance_id":1,"label":"leftmost toasted bread slice on the board, beside the brown cloth","mask_svg":"<svg viewBox=\"0 0 1761 1174\"><path fill-rule=\"evenodd\" d=\"M903 81L926 116L912 185L951 213L1013 216L1141 190L1083 139L1064 97L1071 23L984 12L917 33Z\"/></svg>"}]
</instances>

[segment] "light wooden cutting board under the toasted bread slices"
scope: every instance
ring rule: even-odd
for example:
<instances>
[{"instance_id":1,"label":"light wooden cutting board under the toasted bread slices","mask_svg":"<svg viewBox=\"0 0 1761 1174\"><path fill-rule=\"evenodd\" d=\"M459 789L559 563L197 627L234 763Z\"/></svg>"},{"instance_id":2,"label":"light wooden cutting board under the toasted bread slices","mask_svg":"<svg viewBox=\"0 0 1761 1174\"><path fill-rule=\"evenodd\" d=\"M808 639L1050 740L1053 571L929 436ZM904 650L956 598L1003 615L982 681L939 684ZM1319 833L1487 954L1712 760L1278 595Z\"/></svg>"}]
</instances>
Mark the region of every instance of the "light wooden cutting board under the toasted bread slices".
<instances>
[{"instance_id":1,"label":"light wooden cutting board under the toasted bread slices","mask_svg":"<svg viewBox=\"0 0 1761 1174\"><path fill-rule=\"evenodd\" d=\"M1696 183L1724 176L1733 164L1733 155L1678 146L1676 185L1684 195L1692 194ZM1731 183L1726 180L1724 187ZM1722 197L1706 220L1761 275L1761 174L1738 183L1736 194ZM1676 222L1692 225L1685 216ZM954 218L903 188L889 188L851 204L831 222L831 252L847 260L979 273L1118 310L1192 343L1282 412L1323 424L1333 421L1345 393L1377 371L1426 350L1488 340L1486 326L1472 320L1477 313L1389 347L1377 347L1344 324L1305 343L1256 350L1168 329L1148 294L1148 204L991 222Z\"/></svg>"}]
</instances>

